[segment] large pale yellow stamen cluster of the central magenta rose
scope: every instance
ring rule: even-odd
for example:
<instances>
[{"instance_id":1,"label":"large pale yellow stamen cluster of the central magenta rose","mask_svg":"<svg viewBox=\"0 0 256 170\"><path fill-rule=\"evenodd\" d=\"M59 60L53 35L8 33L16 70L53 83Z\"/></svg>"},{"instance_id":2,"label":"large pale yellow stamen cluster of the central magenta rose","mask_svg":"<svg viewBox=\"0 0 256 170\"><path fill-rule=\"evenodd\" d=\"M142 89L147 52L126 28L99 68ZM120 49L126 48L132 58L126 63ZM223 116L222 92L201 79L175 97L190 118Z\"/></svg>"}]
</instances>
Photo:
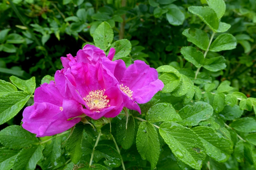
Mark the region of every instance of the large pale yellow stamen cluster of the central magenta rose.
<instances>
[{"instance_id":1,"label":"large pale yellow stamen cluster of the central magenta rose","mask_svg":"<svg viewBox=\"0 0 256 170\"><path fill-rule=\"evenodd\" d=\"M106 99L108 96L104 95L105 89L103 90L95 90L89 92L89 94L84 97L84 101L90 110L94 110L99 112L99 110L109 107L109 99Z\"/></svg>"}]
</instances>

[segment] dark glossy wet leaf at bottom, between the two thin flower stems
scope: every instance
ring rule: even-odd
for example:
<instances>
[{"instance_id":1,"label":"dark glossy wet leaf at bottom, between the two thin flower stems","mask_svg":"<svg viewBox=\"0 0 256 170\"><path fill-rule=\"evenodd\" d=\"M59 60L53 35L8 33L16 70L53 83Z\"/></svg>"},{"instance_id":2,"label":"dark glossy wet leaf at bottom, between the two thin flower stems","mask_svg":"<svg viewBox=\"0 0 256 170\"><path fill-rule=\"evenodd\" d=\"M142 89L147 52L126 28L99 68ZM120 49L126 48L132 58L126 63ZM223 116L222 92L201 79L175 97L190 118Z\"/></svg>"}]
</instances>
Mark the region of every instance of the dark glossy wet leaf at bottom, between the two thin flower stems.
<instances>
[{"instance_id":1,"label":"dark glossy wet leaf at bottom, between the two thin flower stems","mask_svg":"<svg viewBox=\"0 0 256 170\"><path fill-rule=\"evenodd\" d=\"M116 149L108 145L98 145L95 147L94 156L98 159L106 158L105 165L110 167L118 167L121 165L121 155Z\"/></svg>"}]
</instances>

